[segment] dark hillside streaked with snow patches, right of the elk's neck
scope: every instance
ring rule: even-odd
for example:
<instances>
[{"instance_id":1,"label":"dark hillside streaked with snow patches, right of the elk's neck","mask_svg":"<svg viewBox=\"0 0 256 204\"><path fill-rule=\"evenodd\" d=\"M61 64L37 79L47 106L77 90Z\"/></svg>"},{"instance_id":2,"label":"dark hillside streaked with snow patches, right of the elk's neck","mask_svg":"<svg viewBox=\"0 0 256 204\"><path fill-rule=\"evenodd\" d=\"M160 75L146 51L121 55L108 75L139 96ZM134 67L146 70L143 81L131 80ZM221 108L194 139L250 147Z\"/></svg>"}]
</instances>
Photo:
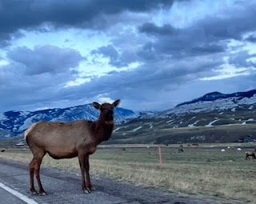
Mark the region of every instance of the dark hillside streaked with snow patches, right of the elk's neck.
<instances>
[{"instance_id":1,"label":"dark hillside streaked with snow patches, right of the elk's neck","mask_svg":"<svg viewBox=\"0 0 256 204\"><path fill-rule=\"evenodd\" d=\"M213 92L117 126L109 143L256 142L256 90Z\"/></svg>"}]
</instances>

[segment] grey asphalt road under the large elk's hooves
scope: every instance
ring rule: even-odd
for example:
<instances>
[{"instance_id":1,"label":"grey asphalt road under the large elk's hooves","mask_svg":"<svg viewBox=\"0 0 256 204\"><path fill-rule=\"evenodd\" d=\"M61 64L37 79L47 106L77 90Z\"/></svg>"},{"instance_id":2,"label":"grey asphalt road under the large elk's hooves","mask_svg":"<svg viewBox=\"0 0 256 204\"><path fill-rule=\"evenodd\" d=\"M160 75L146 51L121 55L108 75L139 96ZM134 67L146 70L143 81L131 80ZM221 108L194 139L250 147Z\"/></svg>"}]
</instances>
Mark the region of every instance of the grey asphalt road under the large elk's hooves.
<instances>
[{"instance_id":1,"label":"grey asphalt road under the large elk's hooves","mask_svg":"<svg viewBox=\"0 0 256 204\"><path fill-rule=\"evenodd\" d=\"M96 190L90 194L82 194L80 175L69 172L42 168L42 185L48 193L47 196L31 195L29 192L28 166L7 162L0 159L0 184L33 199L39 204L208 204L202 200L178 198L173 194L167 194L161 190L143 189L139 186L114 182L106 178L91 178ZM37 187L37 186L36 186ZM0 204L26 204L31 202L22 201L4 190L0 185Z\"/></svg>"}]
</instances>

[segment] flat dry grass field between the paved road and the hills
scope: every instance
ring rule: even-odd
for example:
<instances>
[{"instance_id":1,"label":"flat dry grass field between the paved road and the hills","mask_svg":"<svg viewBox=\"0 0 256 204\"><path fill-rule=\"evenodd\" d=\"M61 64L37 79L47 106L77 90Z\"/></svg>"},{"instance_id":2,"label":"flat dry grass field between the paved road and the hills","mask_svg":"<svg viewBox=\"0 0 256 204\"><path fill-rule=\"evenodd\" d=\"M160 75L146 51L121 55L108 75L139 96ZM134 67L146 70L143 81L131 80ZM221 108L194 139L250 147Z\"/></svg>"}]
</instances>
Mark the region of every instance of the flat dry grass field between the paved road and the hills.
<instances>
[{"instance_id":1,"label":"flat dry grass field between the paved road and the hills","mask_svg":"<svg viewBox=\"0 0 256 204\"><path fill-rule=\"evenodd\" d=\"M237 147L242 146L242 151ZM245 160L245 151L256 144L162 146L159 167L158 146L100 146L90 156L90 172L107 178L158 187L182 196L215 198L219 203L256 203L256 162ZM125 148L125 150L122 150ZM6 150L0 158L29 163L30 150ZM78 158L54 160L46 156L42 166L80 173ZM225 202L223 202L225 201Z\"/></svg>"}]
</instances>

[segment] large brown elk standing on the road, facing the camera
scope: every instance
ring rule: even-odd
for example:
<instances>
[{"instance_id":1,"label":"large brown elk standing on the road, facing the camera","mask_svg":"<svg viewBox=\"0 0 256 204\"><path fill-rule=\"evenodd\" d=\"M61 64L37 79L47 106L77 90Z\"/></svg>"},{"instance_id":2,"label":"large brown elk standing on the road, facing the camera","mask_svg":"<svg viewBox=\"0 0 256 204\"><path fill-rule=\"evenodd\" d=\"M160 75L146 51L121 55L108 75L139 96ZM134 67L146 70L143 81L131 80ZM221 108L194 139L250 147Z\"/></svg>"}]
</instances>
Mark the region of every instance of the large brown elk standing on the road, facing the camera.
<instances>
[{"instance_id":1,"label":"large brown elk standing on the road, facing the camera","mask_svg":"<svg viewBox=\"0 0 256 204\"><path fill-rule=\"evenodd\" d=\"M100 110L97 121L78 120L74 122L38 122L24 133L24 138L34 156L30 162L30 192L46 195L40 179L40 165L46 153L54 159L78 157L82 174L82 192L87 194L94 187L90 183L89 156L94 154L102 141L110 138L114 128L114 107L120 100L110 103L93 102ZM85 181L86 173L86 181ZM34 189L34 174L38 182L38 192Z\"/></svg>"}]
</instances>

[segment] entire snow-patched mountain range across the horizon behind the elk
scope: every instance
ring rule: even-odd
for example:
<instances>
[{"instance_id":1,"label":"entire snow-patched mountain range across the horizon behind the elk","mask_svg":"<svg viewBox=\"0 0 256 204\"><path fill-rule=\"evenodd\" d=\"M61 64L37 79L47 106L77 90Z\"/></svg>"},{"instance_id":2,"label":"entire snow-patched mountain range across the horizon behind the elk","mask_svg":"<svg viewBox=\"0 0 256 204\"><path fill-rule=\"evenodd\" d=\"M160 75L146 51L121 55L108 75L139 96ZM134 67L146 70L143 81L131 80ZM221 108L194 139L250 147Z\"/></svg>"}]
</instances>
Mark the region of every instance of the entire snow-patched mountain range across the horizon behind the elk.
<instances>
[{"instance_id":1,"label":"entire snow-patched mountain range across the horizon behind the elk","mask_svg":"<svg viewBox=\"0 0 256 204\"><path fill-rule=\"evenodd\" d=\"M93 106L0 114L0 139L22 134L33 122L96 120ZM161 112L115 109L113 136L108 144L170 144L194 142L256 142L256 90L212 92ZM2 129L2 130L1 130Z\"/></svg>"}]
</instances>

